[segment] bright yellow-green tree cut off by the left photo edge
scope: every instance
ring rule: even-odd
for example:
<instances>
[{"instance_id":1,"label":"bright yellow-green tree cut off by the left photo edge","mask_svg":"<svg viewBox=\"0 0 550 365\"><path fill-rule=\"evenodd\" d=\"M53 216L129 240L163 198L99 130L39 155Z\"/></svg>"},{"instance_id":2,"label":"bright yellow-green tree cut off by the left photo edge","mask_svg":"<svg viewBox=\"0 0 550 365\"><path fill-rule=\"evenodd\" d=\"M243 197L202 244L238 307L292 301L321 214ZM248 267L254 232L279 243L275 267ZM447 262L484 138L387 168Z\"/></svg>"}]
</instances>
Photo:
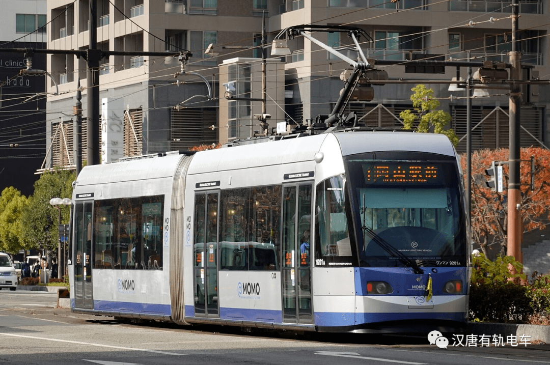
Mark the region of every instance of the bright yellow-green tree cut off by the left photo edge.
<instances>
[{"instance_id":1,"label":"bright yellow-green tree cut off by the left photo edge","mask_svg":"<svg viewBox=\"0 0 550 365\"><path fill-rule=\"evenodd\" d=\"M23 237L21 213L27 198L15 187L6 187L0 195L0 251L18 253L28 242Z\"/></svg>"}]
</instances>

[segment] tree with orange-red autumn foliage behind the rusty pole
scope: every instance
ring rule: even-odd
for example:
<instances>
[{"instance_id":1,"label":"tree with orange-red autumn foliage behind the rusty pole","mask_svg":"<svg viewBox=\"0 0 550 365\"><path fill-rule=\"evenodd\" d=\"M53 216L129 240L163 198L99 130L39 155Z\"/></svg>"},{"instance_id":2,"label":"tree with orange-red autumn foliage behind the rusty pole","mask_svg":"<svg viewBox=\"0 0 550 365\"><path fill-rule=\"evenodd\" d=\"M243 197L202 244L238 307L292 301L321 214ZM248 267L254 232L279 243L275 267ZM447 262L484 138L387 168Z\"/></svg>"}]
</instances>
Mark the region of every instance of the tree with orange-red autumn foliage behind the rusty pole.
<instances>
[{"instance_id":1,"label":"tree with orange-red autumn foliage behind the rusty pole","mask_svg":"<svg viewBox=\"0 0 550 365\"><path fill-rule=\"evenodd\" d=\"M535 189L531 190L531 162L535 157ZM471 224L474 245L487 255L487 248L499 245L500 255L506 255L508 231L508 165L503 166L503 192L486 187L485 169L493 161L508 161L508 148L480 150L472 153ZM524 233L543 229L550 220L550 151L538 147L521 148L521 219ZM466 171L466 156L461 158ZM466 178L466 176L464 176Z\"/></svg>"}]
</instances>

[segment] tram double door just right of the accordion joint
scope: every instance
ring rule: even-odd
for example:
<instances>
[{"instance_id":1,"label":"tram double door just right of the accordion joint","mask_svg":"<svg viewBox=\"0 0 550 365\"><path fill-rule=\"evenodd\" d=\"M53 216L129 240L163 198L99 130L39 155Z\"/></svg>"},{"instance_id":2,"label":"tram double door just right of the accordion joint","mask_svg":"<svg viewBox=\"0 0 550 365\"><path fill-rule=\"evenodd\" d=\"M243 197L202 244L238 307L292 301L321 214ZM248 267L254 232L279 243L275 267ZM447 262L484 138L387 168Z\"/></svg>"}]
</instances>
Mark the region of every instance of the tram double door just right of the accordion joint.
<instances>
[{"instance_id":1,"label":"tram double door just right of the accordion joint","mask_svg":"<svg viewBox=\"0 0 550 365\"><path fill-rule=\"evenodd\" d=\"M194 276L195 316L219 317L218 307L218 192L195 195Z\"/></svg>"}]
</instances>

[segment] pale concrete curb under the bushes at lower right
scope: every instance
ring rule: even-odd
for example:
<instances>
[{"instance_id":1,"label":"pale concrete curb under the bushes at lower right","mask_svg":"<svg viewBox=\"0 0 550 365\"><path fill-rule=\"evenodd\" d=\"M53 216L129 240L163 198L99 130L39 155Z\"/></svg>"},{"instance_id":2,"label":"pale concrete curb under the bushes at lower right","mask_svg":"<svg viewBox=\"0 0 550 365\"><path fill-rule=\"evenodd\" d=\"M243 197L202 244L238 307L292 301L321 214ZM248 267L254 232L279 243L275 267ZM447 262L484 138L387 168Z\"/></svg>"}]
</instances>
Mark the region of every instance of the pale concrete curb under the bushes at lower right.
<instances>
[{"instance_id":1,"label":"pale concrete curb under the bushes at lower right","mask_svg":"<svg viewBox=\"0 0 550 365\"><path fill-rule=\"evenodd\" d=\"M507 336L521 336L529 338L529 341L542 341L550 344L550 326L540 324L513 324L513 323L480 323L468 322L467 333L472 335L500 335L506 341Z\"/></svg>"}]
</instances>

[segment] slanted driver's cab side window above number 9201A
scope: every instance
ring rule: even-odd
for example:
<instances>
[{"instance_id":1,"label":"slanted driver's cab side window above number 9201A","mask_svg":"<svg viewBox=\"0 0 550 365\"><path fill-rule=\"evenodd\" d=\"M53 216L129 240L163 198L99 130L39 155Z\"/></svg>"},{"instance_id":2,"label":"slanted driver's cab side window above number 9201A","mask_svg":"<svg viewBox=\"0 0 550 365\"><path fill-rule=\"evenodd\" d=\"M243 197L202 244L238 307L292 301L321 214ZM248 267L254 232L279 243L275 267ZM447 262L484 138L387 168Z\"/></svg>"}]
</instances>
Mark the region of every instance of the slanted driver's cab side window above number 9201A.
<instances>
[{"instance_id":1,"label":"slanted driver's cab side window above number 9201A","mask_svg":"<svg viewBox=\"0 0 550 365\"><path fill-rule=\"evenodd\" d=\"M345 213L344 176L333 176L317 185L315 225L316 263L351 263L348 220ZM342 260L344 258L344 261Z\"/></svg>"}]
</instances>

